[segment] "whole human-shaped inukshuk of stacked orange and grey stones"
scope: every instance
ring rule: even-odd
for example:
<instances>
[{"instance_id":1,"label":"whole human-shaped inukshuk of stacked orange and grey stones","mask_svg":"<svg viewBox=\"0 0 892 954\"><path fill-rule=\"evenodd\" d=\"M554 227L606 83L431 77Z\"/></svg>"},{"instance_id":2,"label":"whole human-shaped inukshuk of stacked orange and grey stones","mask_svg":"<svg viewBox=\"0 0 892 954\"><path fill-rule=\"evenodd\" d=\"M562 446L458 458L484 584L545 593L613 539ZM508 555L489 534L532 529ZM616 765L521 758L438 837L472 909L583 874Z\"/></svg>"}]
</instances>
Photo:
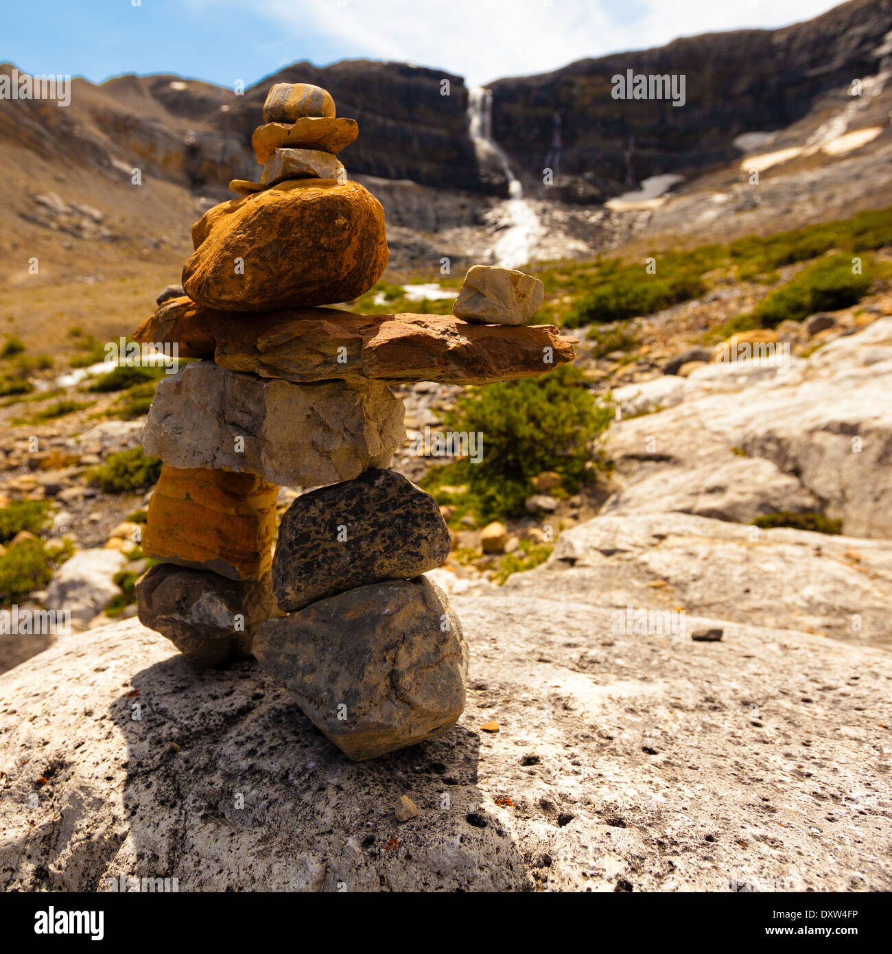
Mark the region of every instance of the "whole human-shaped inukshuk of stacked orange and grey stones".
<instances>
[{"instance_id":1,"label":"whole human-shaped inukshuk of stacked orange and grey stones","mask_svg":"<svg viewBox=\"0 0 892 954\"><path fill-rule=\"evenodd\" d=\"M445 731L467 644L423 574L450 549L432 497L386 469L405 441L389 384L484 384L573 357L526 326L541 282L475 266L455 314L357 315L382 276L384 210L337 154L358 133L318 87L279 84L252 142L260 182L193 227L185 296L136 330L202 359L158 384L142 433L163 467L136 584L139 619L197 667L254 653L351 758ZM507 325L517 325L509 327ZM316 487L282 517L280 485Z\"/></svg>"}]
</instances>

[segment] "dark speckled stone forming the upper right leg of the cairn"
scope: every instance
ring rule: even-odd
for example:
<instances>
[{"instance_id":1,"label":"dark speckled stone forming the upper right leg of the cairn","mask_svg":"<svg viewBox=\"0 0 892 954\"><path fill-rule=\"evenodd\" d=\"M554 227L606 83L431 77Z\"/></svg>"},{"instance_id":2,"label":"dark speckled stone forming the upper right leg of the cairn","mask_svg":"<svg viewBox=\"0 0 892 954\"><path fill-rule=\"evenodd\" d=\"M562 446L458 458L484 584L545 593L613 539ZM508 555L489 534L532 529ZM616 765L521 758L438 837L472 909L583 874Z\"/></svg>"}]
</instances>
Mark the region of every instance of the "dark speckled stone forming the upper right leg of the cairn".
<instances>
[{"instance_id":1,"label":"dark speckled stone forming the upper right leg of the cairn","mask_svg":"<svg viewBox=\"0 0 892 954\"><path fill-rule=\"evenodd\" d=\"M281 518L273 590L282 610L439 567L451 541L437 502L393 470L303 494Z\"/></svg>"}]
</instances>

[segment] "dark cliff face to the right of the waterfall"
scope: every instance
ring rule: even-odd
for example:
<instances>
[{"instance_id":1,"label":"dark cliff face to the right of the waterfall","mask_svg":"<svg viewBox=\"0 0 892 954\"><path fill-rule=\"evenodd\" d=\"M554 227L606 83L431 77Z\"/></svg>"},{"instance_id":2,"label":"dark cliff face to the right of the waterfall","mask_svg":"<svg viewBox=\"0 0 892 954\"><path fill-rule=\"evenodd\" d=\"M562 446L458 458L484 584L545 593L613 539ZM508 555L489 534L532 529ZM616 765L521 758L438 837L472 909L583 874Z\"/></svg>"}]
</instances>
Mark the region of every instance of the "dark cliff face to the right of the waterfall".
<instances>
[{"instance_id":1,"label":"dark cliff face to the right of the waterfall","mask_svg":"<svg viewBox=\"0 0 892 954\"><path fill-rule=\"evenodd\" d=\"M574 187L563 197L615 195L647 176L729 162L740 155L737 135L789 126L822 93L877 73L890 28L892 0L851 0L780 30L685 37L500 79L491 84L493 136L530 182L556 165ZM612 76L629 70L683 75L684 105L614 99Z\"/></svg>"}]
</instances>

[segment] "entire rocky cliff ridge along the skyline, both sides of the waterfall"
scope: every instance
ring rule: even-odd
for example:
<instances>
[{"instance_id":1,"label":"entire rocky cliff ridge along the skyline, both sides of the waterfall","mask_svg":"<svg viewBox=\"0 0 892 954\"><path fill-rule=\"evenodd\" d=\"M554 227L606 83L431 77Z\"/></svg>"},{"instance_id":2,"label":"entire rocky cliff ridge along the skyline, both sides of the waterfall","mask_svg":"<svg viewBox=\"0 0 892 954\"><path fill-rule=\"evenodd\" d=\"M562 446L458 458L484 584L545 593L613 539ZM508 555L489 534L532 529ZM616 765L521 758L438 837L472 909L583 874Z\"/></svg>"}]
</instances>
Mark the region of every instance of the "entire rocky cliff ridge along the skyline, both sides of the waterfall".
<instances>
[{"instance_id":1,"label":"entire rocky cliff ridge along the skyline, both sides of the waterfall","mask_svg":"<svg viewBox=\"0 0 892 954\"><path fill-rule=\"evenodd\" d=\"M500 79L491 84L492 135L528 187L550 166L558 189L549 197L603 201L647 176L729 162L740 155L737 135L789 126L822 94L877 73L890 26L892 0L851 0L781 30L704 34ZM612 76L627 71L683 76L684 105L614 99ZM0 132L34 152L64 142L75 162L111 171L117 158L193 190L220 191L231 178L258 175L250 135L279 82L320 85L339 114L359 121L362 135L343 156L351 174L506 193L504 178L478 164L462 77L404 63L301 62L243 94L172 75L118 76L99 86L75 79L68 109L0 101Z\"/></svg>"}]
</instances>

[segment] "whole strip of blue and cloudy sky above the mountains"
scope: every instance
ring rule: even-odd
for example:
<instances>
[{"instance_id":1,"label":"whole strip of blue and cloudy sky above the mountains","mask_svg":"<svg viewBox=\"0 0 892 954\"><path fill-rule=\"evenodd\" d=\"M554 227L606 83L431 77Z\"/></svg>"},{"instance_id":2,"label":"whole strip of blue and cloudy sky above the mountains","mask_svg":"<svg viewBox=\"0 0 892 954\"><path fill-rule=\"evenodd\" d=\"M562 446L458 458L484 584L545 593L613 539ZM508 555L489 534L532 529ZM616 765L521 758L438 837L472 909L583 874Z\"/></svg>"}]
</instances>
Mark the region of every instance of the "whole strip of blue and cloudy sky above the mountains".
<instances>
[{"instance_id":1,"label":"whole strip of blue and cloudy sky above the mountains","mask_svg":"<svg viewBox=\"0 0 892 954\"><path fill-rule=\"evenodd\" d=\"M6 5L0 61L101 82L176 73L246 86L307 59L418 63L469 82L543 73L677 36L777 27L821 0L33 0Z\"/></svg>"}]
</instances>

